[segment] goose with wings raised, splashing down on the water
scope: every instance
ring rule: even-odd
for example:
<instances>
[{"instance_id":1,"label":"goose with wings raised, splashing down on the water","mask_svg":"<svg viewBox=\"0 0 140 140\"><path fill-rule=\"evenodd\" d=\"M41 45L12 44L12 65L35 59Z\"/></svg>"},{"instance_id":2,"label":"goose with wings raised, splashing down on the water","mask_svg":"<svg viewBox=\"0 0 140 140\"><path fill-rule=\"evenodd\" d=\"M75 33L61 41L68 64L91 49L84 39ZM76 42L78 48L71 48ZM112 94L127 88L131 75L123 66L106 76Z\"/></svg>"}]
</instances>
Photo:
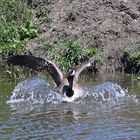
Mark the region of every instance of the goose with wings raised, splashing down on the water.
<instances>
[{"instance_id":1,"label":"goose with wings raised, splashing down on the water","mask_svg":"<svg viewBox=\"0 0 140 140\"><path fill-rule=\"evenodd\" d=\"M25 66L36 71L47 71L53 78L61 95L68 100L84 94L84 88L78 83L81 72L91 66L90 61L85 61L75 68L69 69L65 76L59 67L50 60L45 60L32 55L14 55L7 58L7 63L18 66Z\"/></svg>"}]
</instances>

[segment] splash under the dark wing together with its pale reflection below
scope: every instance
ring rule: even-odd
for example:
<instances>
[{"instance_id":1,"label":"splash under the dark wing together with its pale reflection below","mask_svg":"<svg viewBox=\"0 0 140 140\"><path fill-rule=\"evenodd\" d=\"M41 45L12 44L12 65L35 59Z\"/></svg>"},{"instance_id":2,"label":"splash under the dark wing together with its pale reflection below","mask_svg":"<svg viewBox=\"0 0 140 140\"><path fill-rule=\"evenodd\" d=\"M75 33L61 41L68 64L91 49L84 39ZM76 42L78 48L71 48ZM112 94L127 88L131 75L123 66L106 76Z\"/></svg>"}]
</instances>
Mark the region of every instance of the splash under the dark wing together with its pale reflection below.
<instances>
[{"instance_id":1,"label":"splash under the dark wing together with its pale reflection below","mask_svg":"<svg viewBox=\"0 0 140 140\"><path fill-rule=\"evenodd\" d=\"M17 84L7 101L18 113L29 112L45 103L61 102L61 96L52 90L47 81L31 78Z\"/></svg>"}]
</instances>

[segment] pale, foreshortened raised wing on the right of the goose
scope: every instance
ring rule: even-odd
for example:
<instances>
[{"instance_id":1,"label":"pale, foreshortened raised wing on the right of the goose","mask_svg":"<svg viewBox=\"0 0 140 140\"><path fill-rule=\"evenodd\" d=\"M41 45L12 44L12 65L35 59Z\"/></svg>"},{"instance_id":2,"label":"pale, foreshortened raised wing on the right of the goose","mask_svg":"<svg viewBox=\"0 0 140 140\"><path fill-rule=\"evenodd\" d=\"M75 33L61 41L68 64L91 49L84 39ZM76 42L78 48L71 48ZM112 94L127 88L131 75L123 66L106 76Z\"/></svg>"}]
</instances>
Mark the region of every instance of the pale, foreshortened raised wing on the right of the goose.
<instances>
[{"instance_id":1,"label":"pale, foreshortened raised wing on the right of the goose","mask_svg":"<svg viewBox=\"0 0 140 140\"><path fill-rule=\"evenodd\" d=\"M79 75L83 70L91 66L90 61L83 62L75 68L75 80L78 81Z\"/></svg>"}]
</instances>

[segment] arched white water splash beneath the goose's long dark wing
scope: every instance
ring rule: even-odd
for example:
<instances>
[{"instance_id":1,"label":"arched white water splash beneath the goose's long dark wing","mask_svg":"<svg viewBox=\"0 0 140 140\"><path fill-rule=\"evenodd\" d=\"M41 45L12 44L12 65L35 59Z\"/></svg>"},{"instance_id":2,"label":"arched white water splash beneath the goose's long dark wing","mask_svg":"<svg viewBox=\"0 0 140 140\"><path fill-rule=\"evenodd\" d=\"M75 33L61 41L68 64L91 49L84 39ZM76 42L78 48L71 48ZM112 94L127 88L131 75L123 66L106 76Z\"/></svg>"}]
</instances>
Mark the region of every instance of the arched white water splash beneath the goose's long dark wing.
<instances>
[{"instance_id":1,"label":"arched white water splash beneath the goose's long dark wing","mask_svg":"<svg viewBox=\"0 0 140 140\"><path fill-rule=\"evenodd\" d=\"M30 102L32 104L61 101L57 92L42 79L31 78L20 82L7 103Z\"/></svg>"}]
</instances>

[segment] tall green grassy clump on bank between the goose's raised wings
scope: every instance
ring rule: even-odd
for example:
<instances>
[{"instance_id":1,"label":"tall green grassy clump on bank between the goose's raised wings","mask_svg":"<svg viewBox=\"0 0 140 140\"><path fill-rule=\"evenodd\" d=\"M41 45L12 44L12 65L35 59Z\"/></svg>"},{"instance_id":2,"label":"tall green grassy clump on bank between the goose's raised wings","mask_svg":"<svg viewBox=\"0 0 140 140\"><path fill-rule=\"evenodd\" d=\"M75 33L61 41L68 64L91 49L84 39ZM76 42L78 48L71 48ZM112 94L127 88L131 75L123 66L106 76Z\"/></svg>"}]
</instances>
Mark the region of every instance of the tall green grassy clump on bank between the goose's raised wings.
<instances>
[{"instance_id":1,"label":"tall green grassy clump on bank between the goose's raised wings","mask_svg":"<svg viewBox=\"0 0 140 140\"><path fill-rule=\"evenodd\" d=\"M45 52L50 60L56 62L63 70L74 67L81 58L80 45L69 37L61 37L59 47L53 47L48 41L44 42Z\"/></svg>"}]
</instances>

